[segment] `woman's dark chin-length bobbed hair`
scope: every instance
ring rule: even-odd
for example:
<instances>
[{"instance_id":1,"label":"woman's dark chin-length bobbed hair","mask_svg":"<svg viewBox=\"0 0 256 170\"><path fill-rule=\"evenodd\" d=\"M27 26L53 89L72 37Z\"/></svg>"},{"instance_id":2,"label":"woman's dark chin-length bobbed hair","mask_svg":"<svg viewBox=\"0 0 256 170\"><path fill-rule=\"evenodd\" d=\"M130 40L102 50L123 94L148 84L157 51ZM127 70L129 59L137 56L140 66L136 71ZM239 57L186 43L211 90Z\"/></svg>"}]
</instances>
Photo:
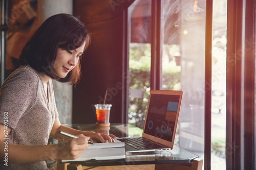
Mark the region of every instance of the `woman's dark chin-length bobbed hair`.
<instances>
[{"instance_id":1,"label":"woman's dark chin-length bobbed hair","mask_svg":"<svg viewBox=\"0 0 256 170\"><path fill-rule=\"evenodd\" d=\"M84 41L86 50L90 43L90 33L78 18L70 14L53 15L42 23L24 46L19 58L20 63L28 64L57 81L76 84L80 78L80 59L65 78L59 78L54 74L52 64L58 48L74 50Z\"/></svg>"}]
</instances>

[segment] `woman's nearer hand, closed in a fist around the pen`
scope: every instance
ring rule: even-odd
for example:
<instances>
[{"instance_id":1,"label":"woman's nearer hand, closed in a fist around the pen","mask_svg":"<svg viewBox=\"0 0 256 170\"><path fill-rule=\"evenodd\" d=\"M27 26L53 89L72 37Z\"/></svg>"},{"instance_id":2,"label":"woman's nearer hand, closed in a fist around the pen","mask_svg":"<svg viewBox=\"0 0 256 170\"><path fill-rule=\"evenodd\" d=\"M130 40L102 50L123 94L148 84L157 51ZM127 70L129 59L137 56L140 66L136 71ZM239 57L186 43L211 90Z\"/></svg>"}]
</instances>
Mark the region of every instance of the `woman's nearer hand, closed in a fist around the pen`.
<instances>
[{"instance_id":1,"label":"woman's nearer hand, closed in a fist around the pen","mask_svg":"<svg viewBox=\"0 0 256 170\"><path fill-rule=\"evenodd\" d=\"M56 144L57 159L76 159L88 148L87 141L90 139L83 134L79 138L62 140Z\"/></svg>"}]
</instances>

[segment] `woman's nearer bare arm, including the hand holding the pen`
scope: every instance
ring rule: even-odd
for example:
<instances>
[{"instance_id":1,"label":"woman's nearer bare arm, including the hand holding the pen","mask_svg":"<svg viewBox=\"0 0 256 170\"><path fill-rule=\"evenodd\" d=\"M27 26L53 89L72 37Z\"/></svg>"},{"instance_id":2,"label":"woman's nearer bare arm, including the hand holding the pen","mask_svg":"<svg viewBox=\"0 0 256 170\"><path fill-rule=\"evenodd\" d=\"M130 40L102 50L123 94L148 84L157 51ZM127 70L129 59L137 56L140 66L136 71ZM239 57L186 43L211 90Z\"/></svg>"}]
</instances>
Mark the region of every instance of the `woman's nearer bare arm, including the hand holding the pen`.
<instances>
[{"instance_id":1,"label":"woman's nearer bare arm, including the hand holding the pen","mask_svg":"<svg viewBox=\"0 0 256 170\"><path fill-rule=\"evenodd\" d=\"M7 132L4 128L4 125L0 124L0 155L1 161L4 161L7 155L8 163L76 159L88 148L88 138L82 134L77 139L63 140L57 144L18 145L8 143L7 145L7 140L5 140ZM8 127L7 131L10 133L11 128Z\"/></svg>"}]
</instances>

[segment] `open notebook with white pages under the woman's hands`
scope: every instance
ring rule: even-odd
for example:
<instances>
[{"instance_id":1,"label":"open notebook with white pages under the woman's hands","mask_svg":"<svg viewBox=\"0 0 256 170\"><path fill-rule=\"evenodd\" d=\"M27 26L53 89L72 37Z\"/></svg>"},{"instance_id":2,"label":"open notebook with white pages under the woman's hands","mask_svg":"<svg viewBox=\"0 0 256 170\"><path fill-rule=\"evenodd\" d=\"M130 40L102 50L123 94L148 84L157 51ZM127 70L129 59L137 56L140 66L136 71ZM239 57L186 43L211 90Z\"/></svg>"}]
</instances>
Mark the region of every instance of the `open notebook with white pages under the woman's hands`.
<instances>
[{"instance_id":1,"label":"open notebook with white pages under the woman's hands","mask_svg":"<svg viewBox=\"0 0 256 170\"><path fill-rule=\"evenodd\" d=\"M114 160L125 159L124 143L94 143L88 144L88 149L79 158L74 160L61 160L61 163L79 162L88 160Z\"/></svg>"}]
</instances>

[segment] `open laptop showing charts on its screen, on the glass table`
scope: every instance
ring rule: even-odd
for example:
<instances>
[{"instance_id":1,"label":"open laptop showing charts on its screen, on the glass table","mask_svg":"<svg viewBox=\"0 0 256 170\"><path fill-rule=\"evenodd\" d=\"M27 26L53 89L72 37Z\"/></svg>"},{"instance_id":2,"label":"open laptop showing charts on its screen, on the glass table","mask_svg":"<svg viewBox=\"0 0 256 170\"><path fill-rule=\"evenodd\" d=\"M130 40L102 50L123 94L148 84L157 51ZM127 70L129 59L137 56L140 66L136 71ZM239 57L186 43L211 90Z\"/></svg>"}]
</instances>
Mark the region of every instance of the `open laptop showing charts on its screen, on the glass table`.
<instances>
[{"instance_id":1,"label":"open laptop showing charts on its screen, on the glass table","mask_svg":"<svg viewBox=\"0 0 256 170\"><path fill-rule=\"evenodd\" d=\"M182 91L150 91L142 137L116 139L125 143L126 153L173 149L181 97Z\"/></svg>"}]
</instances>

